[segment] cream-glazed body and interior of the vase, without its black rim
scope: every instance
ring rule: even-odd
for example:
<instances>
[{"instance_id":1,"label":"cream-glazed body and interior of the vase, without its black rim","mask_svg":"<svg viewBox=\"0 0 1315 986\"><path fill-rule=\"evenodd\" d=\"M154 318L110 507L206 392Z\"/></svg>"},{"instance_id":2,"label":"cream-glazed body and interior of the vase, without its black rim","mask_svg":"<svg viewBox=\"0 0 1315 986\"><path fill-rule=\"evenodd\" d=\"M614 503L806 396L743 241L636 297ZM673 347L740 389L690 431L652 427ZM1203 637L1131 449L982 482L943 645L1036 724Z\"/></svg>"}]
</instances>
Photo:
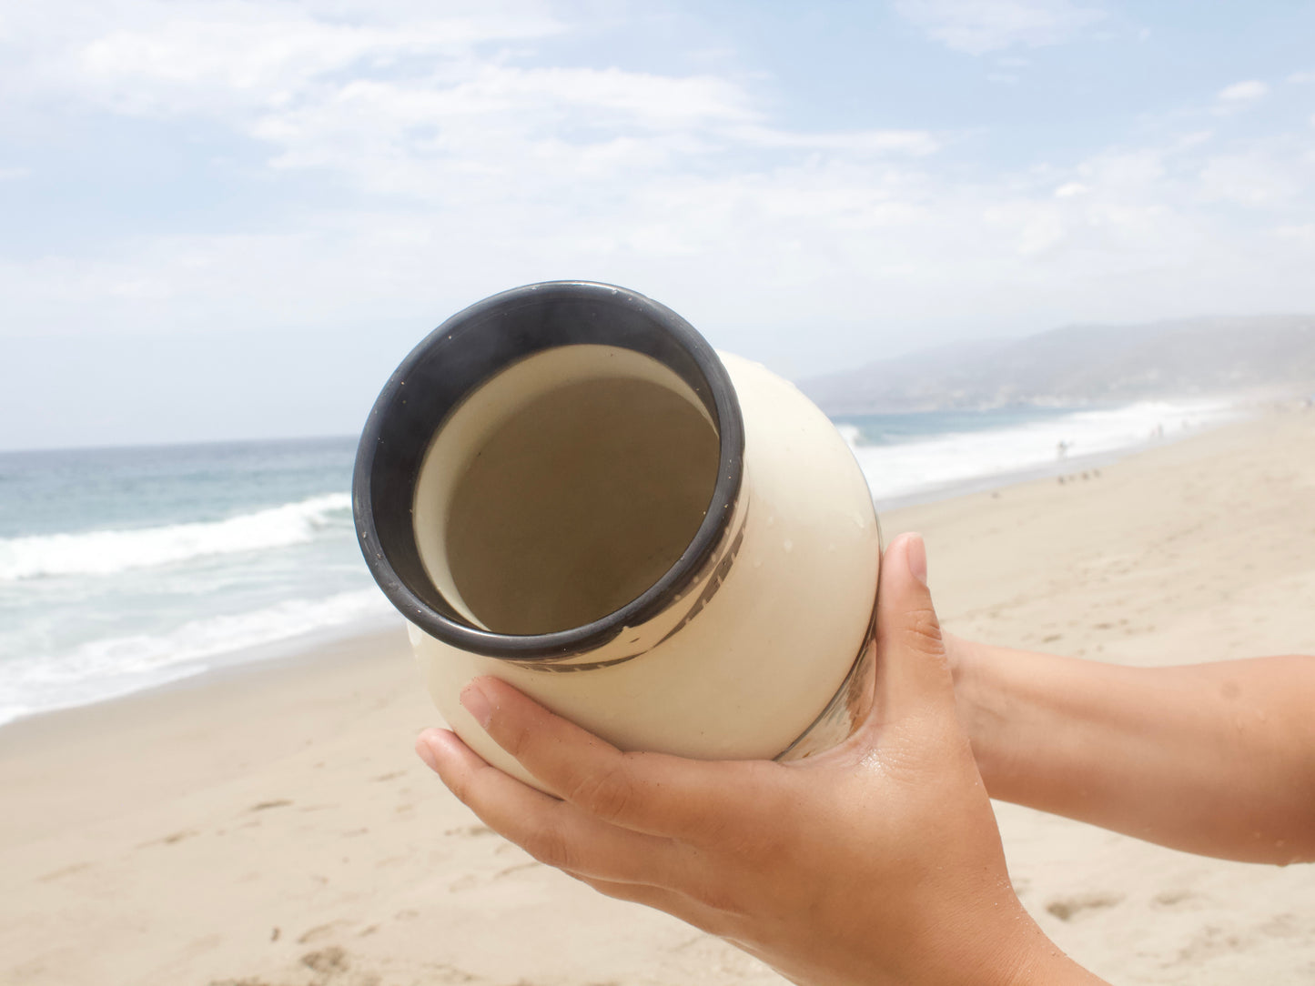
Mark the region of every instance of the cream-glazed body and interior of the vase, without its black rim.
<instances>
[{"instance_id":1,"label":"cream-glazed body and interior of the vase, without its black rim","mask_svg":"<svg viewBox=\"0 0 1315 986\"><path fill-rule=\"evenodd\" d=\"M477 626L540 632L623 603L679 556L686 531L702 519L692 504L706 504L718 468L706 411L684 381L647 356L572 352L606 348L560 347L512 367L476 392L451 417L451 434L444 427L430 447L416 493L417 543L434 584ZM721 359L744 419L743 484L721 543L680 598L564 660L471 653L410 627L434 703L489 763L534 782L460 707L462 688L480 674L504 678L623 749L705 759L807 755L843 739L865 714L880 556L867 482L831 422L793 385L755 363ZM525 387L513 396L517 377ZM600 429L596 401L618 393L633 398L630 409L613 405L618 427ZM550 406L565 411L560 430L543 421ZM623 433L643 430L646 409L655 408L665 409L669 423L627 444ZM572 438L579 423L565 425L576 411L596 422L584 444ZM522 460L535 442L538 460ZM492 464L472 465L485 450ZM554 463L576 480L555 476ZM513 475L519 485L506 482ZM552 484L560 489L546 492ZM592 506L573 511L572 490ZM596 513L609 490L636 497L635 509ZM664 490L672 502L648 525L643 518ZM500 515L509 527L500 528ZM594 518L600 536L568 550L581 531L594 530ZM544 527L551 530L539 532ZM523 551L526 564L481 568L479 543L489 539L497 543L490 557ZM567 586L569 599L542 609L527 602L540 589L556 597L580 565L600 565L608 576L583 573L581 585Z\"/></svg>"}]
</instances>

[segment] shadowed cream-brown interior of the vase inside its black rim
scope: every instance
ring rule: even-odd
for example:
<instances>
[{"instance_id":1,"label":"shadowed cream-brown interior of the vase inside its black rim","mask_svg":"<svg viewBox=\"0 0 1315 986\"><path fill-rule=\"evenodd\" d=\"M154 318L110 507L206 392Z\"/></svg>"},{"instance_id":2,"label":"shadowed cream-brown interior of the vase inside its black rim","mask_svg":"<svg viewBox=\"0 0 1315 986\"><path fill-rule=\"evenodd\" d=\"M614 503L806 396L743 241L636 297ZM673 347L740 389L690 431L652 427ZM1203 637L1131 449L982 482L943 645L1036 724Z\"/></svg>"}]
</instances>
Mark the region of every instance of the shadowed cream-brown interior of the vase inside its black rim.
<instances>
[{"instance_id":1,"label":"shadowed cream-brown interior of the vase inside its black rim","mask_svg":"<svg viewBox=\"0 0 1315 986\"><path fill-rule=\"evenodd\" d=\"M551 634L652 586L707 514L718 434L650 356L567 346L502 371L458 408L416 486L421 560L494 634Z\"/></svg>"}]
</instances>

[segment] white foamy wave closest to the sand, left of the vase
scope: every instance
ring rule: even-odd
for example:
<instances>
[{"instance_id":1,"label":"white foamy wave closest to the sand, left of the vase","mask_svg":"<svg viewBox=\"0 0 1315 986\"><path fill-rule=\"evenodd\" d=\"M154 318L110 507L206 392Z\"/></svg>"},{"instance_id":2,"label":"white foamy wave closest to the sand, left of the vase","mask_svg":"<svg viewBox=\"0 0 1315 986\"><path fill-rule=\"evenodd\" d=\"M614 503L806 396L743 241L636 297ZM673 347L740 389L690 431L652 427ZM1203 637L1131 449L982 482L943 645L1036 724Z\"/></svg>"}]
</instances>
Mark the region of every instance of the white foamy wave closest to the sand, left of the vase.
<instances>
[{"instance_id":1,"label":"white foamy wave closest to the sand, left of the vase","mask_svg":"<svg viewBox=\"0 0 1315 986\"><path fill-rule=\"evenodd\" d=\"M64 653L4 661L0 723L196 674L214 657L252 652L308 634L342 631L351 624L375 626L392 615L396 610L377 589L363 589L195 619L158 635L103 638Z\"/></svg>"}]
</instances>

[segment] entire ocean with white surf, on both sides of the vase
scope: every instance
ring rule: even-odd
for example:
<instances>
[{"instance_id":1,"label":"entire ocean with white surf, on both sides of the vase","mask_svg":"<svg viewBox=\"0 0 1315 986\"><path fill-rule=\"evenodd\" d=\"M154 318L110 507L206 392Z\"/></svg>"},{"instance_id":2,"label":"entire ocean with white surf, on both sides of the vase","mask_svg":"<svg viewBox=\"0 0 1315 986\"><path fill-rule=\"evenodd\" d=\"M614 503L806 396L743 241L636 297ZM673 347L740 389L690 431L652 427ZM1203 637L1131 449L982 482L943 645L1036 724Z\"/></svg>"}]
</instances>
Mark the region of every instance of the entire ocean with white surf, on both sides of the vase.
<instances>
[{"instance_id":1,"label":"entire ocean with white surf, on both sides of the vase","mask_svg":"<svg viewBox=\"0 0 1315 986\"><path fill-rule=\"evenodd\" d=\"M1081 468L1223 404L839 417L878 509ZM0 454L0 723L396 626L351 521L355 439Z\"/></svg>"}]
</instances>

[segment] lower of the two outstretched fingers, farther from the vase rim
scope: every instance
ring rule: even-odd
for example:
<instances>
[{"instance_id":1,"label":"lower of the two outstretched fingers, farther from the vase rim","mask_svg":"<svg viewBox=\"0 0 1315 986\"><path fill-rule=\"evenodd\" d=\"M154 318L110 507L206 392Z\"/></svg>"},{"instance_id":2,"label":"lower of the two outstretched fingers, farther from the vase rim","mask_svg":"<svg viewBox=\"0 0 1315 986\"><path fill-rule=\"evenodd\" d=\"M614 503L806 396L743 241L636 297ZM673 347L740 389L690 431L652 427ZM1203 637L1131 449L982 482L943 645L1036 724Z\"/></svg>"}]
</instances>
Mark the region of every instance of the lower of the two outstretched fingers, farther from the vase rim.
<instances>
[{"instance_id":1,"label":"lower of the two outstretched fingers, farther from the vase rim","mask_svg":"<svg viewBox=\"0 0 1315 986\"><path fill-rule=\"evenodd\" d=\"M668 839L617 828L590 818L489 766L447 730L427 730L416 751L451 791L493 831L539 862L590 880L648 882L679 880L686 870L681 847Z\"/></svg>"}]
</instances>

